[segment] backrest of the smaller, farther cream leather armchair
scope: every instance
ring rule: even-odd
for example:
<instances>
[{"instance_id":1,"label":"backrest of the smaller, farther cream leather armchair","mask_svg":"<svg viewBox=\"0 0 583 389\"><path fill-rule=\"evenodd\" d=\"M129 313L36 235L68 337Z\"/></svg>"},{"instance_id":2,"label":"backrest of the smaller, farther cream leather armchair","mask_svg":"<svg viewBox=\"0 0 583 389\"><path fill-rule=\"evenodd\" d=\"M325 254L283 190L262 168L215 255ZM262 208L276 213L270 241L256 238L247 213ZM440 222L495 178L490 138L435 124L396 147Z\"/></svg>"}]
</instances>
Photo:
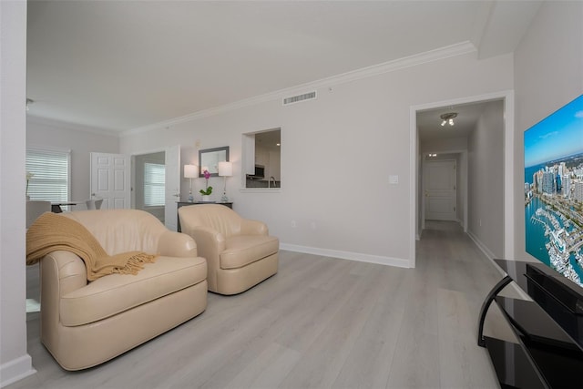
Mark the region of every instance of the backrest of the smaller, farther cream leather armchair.
<instances>
[{"instance_id":1,"label":"backrest of the smaller, farther cream leather armchair","mask_svg":"<svg viewBox=\"0 0 583 389\"><path fill-rule=\"evenodd\" d=\"M180 225L203 226L222 233L225 238L240 235L241 217L220 204L197 204L179 208Z\"/></svg>"}]
</instances>

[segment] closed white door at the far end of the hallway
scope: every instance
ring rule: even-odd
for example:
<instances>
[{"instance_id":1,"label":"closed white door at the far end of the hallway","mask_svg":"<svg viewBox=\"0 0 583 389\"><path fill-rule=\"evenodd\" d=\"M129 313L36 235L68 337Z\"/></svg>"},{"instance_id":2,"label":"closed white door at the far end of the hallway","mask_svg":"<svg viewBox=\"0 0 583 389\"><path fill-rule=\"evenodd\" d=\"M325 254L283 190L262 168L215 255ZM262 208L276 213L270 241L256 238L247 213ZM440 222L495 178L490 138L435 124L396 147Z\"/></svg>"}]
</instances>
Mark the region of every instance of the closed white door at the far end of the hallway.
<instances>
[{"instance_id":1,"label":"closed white door at the far end of the hallway","mask_svg":"<svg viewBox=\"0 0 583 389\"><path fill-rule=\"evenodd\" d=\"M455 160L426 161L424 166L425 219L457 220Z\"/></svg>"}]
</instances>

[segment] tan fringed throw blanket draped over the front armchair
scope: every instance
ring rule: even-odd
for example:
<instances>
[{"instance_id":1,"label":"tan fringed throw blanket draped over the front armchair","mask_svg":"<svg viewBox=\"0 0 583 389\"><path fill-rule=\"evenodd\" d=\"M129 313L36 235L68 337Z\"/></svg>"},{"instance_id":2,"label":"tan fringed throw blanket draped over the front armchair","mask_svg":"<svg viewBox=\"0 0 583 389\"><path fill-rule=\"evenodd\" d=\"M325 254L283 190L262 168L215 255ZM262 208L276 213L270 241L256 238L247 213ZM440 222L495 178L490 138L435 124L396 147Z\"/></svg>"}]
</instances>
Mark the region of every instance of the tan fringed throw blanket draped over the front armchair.
<instances>
[{"instance_id":1,"label":"tan fringed throw blanket draped over the front armchair","mask_svg":"<svg viewBox=\"0 0 583 389\"><path fill-rule=\"evenodd\" d=\"M57 213L45 212L26 231L26 265L33 265L57 250L74 252L85 261L88 281L111 273L137 274L144 263L156 259L156 255L143 251L108 255L82 224Z\"/></svg>"}]
</instances>

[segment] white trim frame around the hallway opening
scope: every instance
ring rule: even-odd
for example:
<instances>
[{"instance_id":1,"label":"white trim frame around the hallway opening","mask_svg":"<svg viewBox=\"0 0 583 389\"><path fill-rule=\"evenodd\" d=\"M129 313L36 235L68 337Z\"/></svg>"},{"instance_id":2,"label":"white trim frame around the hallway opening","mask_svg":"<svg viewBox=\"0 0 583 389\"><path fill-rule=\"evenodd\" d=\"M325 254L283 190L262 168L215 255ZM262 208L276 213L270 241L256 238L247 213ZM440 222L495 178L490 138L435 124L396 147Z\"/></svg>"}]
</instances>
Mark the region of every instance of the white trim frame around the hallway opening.
<instances>
[{"instance_id":1,"label":"white trim frame around the hallway opening","mask_svg":"<svg viewBox=\"0 0 583 389\"><path fill-rule=\"evenodd\" d=\"M504 256L505 258L514 258L515 256L515 97L514 90L504 90L500 92L477 95L473 97L462 97L452 100L438 101L418 106L409 107L409 176L410 180L410 201L409 201L409 220L411 220L409 230L409 267L415 267L415 242L419 233L419 215L421 213L419 202L423 192L418 185L420 179L420 145L419 133L417 128L417 111L455 106L458 104L468 104L477 102L486 102L489 100L502 100L504 104ZM467 224L467 223L465 223Z\"/></svg>"}]
</instances>

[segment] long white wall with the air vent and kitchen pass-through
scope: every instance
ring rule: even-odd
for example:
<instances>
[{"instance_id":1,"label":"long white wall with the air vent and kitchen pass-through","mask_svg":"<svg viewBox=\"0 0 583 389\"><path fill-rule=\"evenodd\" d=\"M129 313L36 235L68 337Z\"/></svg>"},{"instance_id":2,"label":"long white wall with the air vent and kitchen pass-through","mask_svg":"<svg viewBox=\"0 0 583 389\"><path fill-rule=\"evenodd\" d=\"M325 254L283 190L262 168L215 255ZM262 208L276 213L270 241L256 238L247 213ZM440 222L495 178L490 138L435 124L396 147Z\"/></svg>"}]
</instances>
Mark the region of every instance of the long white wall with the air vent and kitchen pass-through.
<instances>
[{"instance_id":1,"label":"long white wall with the air vent and kitchen pass-through","mask_svg":"<svg viewBox=\"0 0 583 389\"><path fill-rule=\"evenodd\" d=\"M197 140L199 148L230 146L234 209L266 221L283 246L406 265L414 222L408 207L414 196L410 107L511 89L512 66L510 55L477 60L473 53L331 82L332 90L320 87L318 98L305 103L282 107L276 99L128 134L120 150L131 154L180 144L186 164L196 162ZM268 128L281 128L281 191L240 191L241 134ZM389 185L390 175L398 176L397 185ZM182 191L185 197L186 181Z\"/></svg>"}]
</instances>

